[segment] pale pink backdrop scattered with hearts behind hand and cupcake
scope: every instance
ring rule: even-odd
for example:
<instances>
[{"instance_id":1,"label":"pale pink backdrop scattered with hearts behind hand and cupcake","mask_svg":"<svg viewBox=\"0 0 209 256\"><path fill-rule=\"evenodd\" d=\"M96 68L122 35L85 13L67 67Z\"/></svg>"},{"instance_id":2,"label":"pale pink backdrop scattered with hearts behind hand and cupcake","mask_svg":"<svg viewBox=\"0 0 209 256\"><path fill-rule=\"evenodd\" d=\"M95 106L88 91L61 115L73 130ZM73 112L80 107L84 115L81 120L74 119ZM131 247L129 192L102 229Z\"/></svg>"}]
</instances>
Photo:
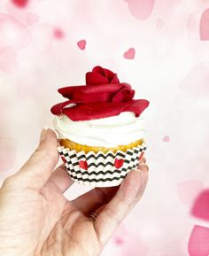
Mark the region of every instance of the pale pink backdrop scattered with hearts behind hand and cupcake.
<instances>
[{"instance_id":1,"label":"pale pink backdrop scattered with hearts behind hand and cupcake","mask_svg":"<svg viewBox=\"0 0 209 256\"><path fill-rule=\"evenodd\" d=\"M209 0L2 0L1 181L51 126L57 89L96 65L151 101L150 181L102 255L207 256Z\"/></svg>"}]
</instances>

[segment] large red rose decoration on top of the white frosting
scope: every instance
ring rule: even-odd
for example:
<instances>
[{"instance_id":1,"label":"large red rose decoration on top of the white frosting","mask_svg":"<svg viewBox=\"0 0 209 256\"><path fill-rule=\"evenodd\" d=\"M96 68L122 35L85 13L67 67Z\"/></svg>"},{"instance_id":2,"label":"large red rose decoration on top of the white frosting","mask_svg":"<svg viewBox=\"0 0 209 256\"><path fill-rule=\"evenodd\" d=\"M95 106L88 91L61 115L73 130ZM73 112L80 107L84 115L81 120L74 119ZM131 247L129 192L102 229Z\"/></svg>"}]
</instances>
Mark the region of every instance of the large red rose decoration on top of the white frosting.
<instances>
[{"instance_id":1,"label":"large red rose decoration on top of the white frosting","mask_svg":"<svg viewBox=\"0 0 209 256\"><path fill-rule=\"evenodd\" d=\"M101 66L86 74L86 85L69 86L58 92L68 100L52 106L50 111L55 115L66 114L74 121L101 119L120 112L135 112L138 117L149 105L145 99L133 99L135 90Z\"/></svg>"}]
</instances>

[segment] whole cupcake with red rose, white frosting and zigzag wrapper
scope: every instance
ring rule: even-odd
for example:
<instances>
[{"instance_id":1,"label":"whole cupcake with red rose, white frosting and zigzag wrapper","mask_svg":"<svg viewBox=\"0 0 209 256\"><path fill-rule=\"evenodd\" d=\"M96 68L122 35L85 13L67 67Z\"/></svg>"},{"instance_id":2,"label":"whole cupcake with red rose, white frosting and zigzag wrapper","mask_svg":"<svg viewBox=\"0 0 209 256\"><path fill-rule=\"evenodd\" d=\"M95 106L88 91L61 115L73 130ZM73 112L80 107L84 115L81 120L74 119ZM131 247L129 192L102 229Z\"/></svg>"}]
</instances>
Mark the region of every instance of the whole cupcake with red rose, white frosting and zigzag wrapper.
<instances>
[{"instance_id":1,"label":"whole cupcake with red rose, white frosting and zigzag wrapper","mask_svg":"<svg viewBox=\"0 0 209 256\"><path fill-rule=\"evenodd\" d=\"M146 150L141 114L149 101L134 99L135 90L101 66L86 74L86 85L58 92L67 100L51 112L68 174L92 187L119 185Z\"/></svg>"}]
</instances>

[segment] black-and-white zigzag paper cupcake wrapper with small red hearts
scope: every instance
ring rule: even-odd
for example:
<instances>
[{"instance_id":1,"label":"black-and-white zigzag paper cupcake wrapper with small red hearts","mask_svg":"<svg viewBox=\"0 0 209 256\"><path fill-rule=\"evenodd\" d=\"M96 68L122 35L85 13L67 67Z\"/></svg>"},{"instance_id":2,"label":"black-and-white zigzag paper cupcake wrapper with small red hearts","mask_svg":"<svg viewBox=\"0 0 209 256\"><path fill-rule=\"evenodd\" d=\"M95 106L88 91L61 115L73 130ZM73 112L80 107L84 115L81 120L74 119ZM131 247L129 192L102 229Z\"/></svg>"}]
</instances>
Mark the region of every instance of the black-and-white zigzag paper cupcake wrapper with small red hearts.
<instances>
[{"instance_id":1,"label":"black-and-white zigzag paper cupcake wrapper with small red hearts","mask_svg":"<svg viewBox=\"0 0 209 256\"><path fill-rule=\"evenodd\" d=\"M71 151L63 146L58 152L66 170L74 182L92 187L112 187L120 185L129 171L137 167L146 144L125 151Z\"/></svg>"}]
</instances>

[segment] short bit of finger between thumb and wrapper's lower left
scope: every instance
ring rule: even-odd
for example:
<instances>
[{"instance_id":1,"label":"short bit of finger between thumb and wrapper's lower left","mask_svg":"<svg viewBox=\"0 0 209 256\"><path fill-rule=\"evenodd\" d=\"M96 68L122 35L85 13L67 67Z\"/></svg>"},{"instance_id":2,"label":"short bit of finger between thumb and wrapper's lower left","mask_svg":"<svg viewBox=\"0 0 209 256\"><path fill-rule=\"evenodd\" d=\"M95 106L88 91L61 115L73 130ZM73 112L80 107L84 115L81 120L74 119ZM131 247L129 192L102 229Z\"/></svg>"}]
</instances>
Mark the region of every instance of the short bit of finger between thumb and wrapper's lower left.
<instances>
[{"instance_id":1,"label":"short bit of finger between thumb and wrapper's lower left","mask_svg":"<svg viewBox=\"0 0 209 256\"><path fill-rule=\"evenodd\" d=\"M58 189L64 193L74 181L71 179L70 175L67 174L65 165L61 165L50 175L47 183L55 184Z\"/></svg>"}]
</instances>

